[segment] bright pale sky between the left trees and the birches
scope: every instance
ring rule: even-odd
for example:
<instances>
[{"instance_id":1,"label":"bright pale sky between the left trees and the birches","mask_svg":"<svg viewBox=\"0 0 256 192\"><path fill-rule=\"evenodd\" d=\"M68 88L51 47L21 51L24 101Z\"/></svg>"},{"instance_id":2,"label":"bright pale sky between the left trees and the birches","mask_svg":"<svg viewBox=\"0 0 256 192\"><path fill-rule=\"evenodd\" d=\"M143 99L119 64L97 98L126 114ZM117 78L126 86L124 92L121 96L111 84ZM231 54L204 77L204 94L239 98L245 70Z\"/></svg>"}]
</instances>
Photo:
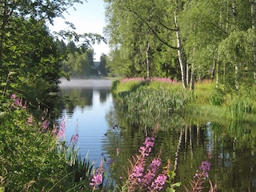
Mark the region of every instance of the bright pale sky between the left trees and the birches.
<instances>
[{"instance_id":1,"label":"bright pale sky between the left trees and the birches","mask_svg":"<svg viewBox=\"0 0 256 192\"><path fill-rule=\"evenodd\" d=\"M75 4L75 9L70 8L69 14L64 14L67 22L72 22L78 34L96 33L103 34L105 22L105 8L103 0L87 0L83 4ZM49 26L50 31L65 30L65 20L62 18L54 19L54 26ZM105 42L96 43L94 46L94 62L100 61L102 53L109 54L109 46Z\"/></svg>"}]
</instances>

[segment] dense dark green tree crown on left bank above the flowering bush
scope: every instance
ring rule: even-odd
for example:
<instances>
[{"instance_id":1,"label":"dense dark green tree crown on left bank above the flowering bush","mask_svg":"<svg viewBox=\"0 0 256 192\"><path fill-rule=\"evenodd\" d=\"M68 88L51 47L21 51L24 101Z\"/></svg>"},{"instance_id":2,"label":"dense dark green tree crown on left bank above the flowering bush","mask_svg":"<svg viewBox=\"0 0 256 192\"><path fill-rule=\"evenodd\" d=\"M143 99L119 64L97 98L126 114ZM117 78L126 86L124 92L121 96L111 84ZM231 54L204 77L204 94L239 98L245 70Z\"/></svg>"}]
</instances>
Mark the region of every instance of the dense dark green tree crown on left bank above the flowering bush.
<instances>
[{"instance_id":1,"label":"dense dark green tree crown on left bank above the flowering bush","mask_svg":"<svg viewBox=\"0 0 256 192\"><path fill-rule=\"evenodd\" d=\"M13 73L3 94L19 94L34 109L50 107L62 76L61 56L43 21L16 20L19 25L12 26L11 38L6 39L2 53L2 72ZM6 81L6 74L0 76L2 82Z\"/></svg>"}]
</instances>

